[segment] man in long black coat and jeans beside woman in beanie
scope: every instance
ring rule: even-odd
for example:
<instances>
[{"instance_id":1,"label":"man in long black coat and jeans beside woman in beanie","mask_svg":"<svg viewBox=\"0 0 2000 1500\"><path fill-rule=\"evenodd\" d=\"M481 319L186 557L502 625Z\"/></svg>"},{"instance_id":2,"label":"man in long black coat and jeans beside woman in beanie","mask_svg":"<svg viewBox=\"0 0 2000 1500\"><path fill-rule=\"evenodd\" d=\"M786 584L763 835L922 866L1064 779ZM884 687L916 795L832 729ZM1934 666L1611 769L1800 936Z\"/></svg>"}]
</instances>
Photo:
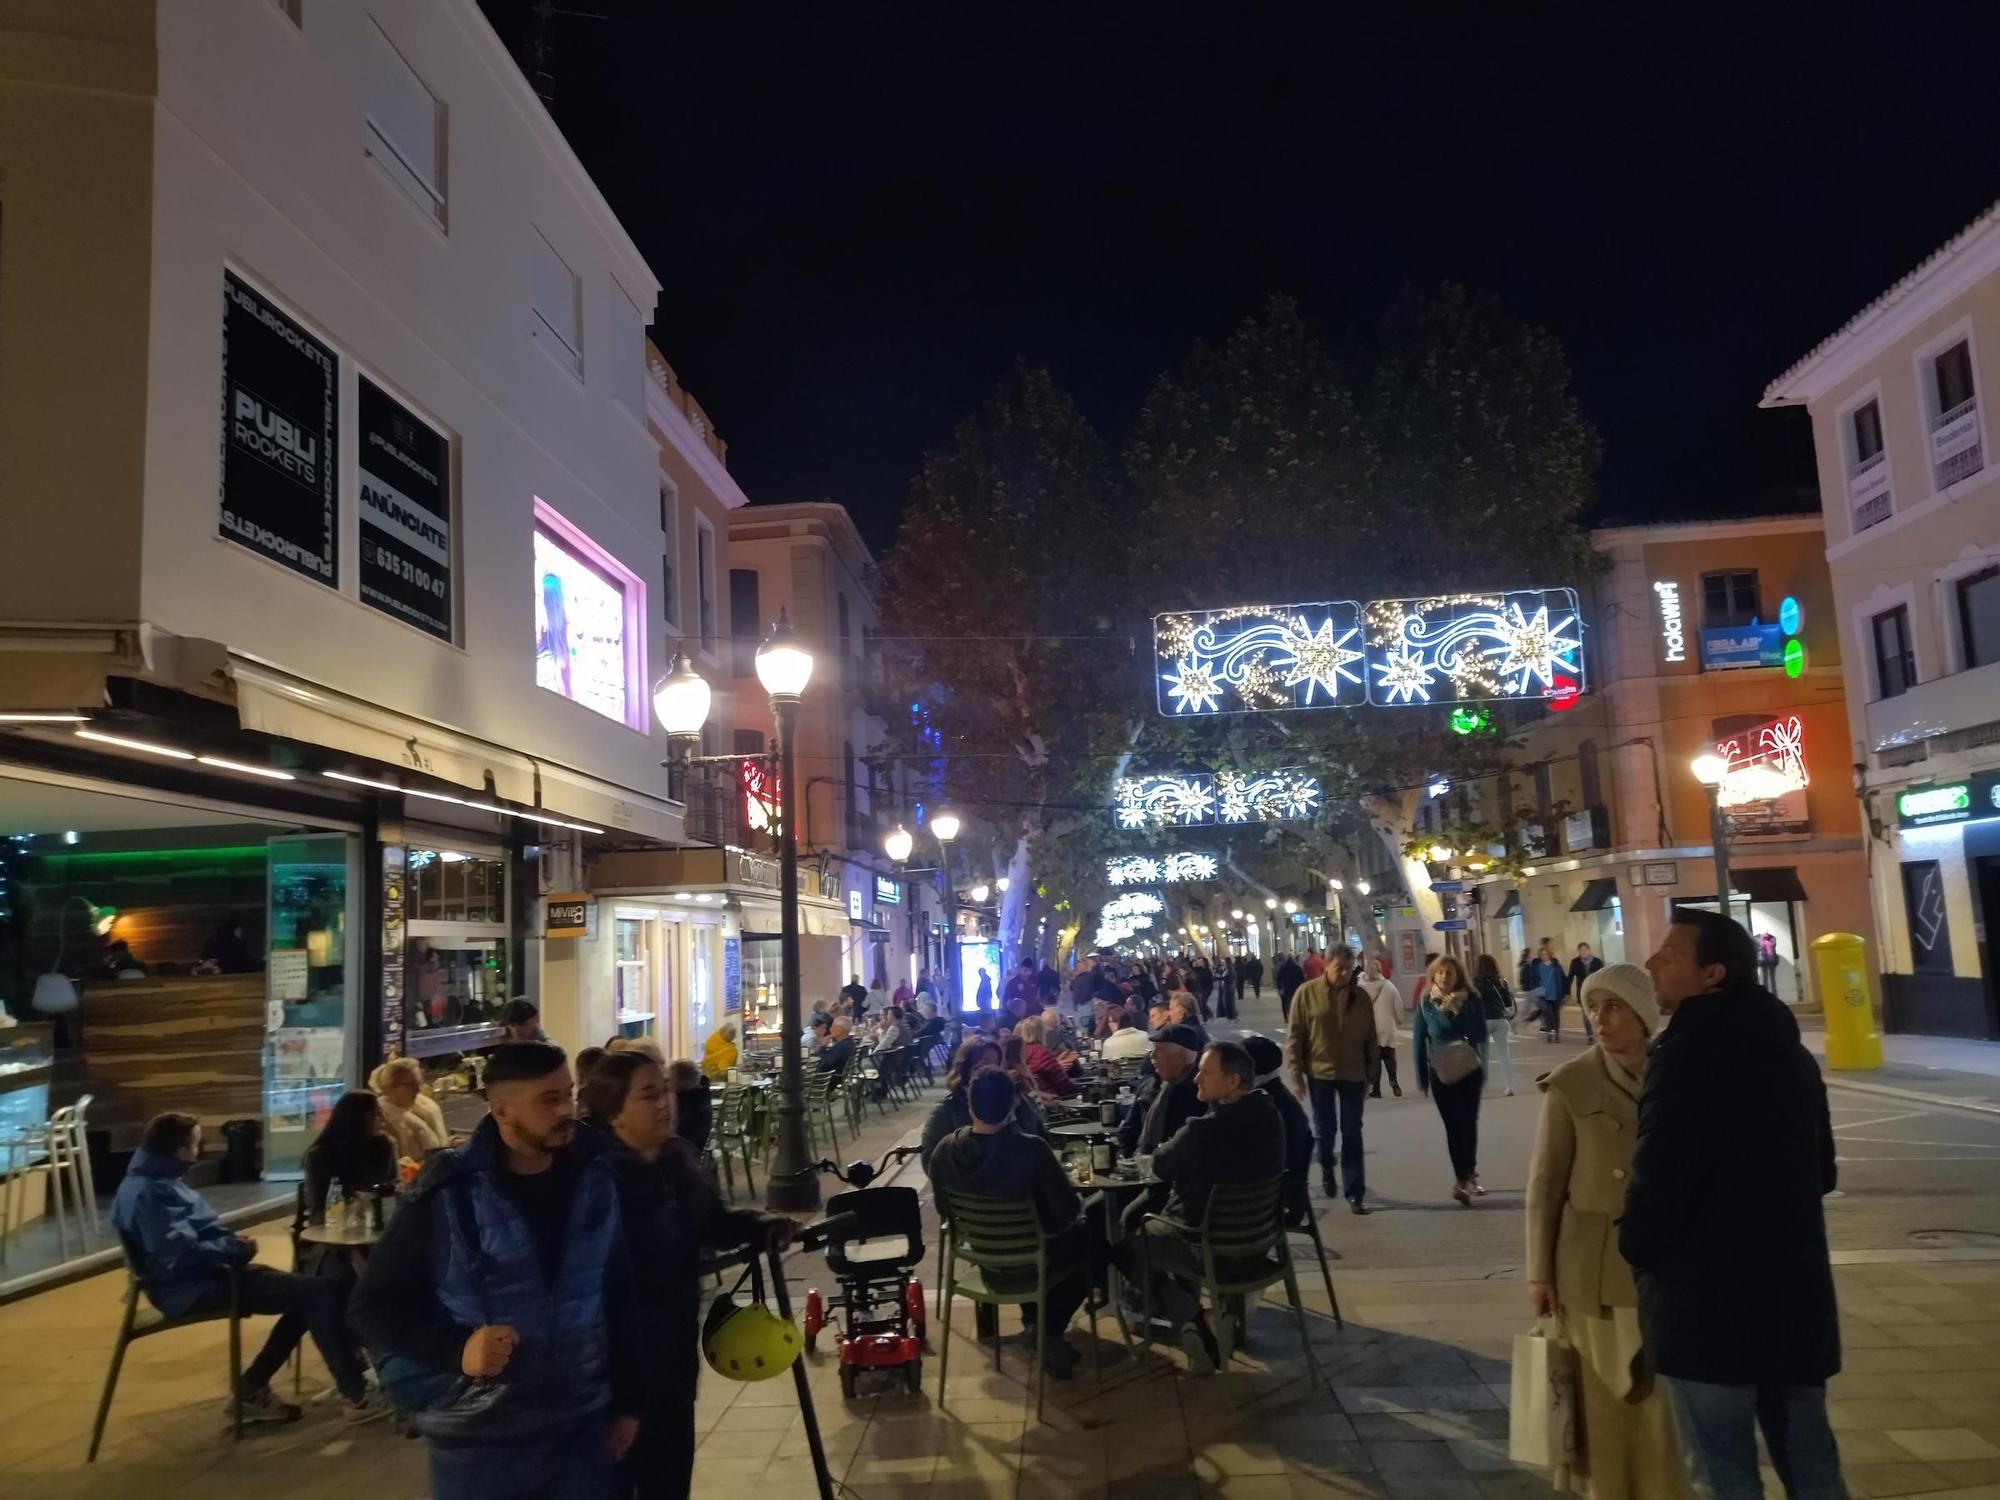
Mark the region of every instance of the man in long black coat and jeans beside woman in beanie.
<instances>
[{"instance_id":1,"label":"man in long black coat and jeans beside woman in beanie","mask_svg":"<svg viewBox=\"0 0 2000 1500\"><path fill-rule=\"evenodd\" d=\"M1688 1476L1704 1496L1762 1494L1762 1426L1788 1496L1844 1500L1826 1084L1736 922L1676 914L1646 968L1674 1020L1646 1064L1618 1250Z\"/></svg>"}]
</instances>

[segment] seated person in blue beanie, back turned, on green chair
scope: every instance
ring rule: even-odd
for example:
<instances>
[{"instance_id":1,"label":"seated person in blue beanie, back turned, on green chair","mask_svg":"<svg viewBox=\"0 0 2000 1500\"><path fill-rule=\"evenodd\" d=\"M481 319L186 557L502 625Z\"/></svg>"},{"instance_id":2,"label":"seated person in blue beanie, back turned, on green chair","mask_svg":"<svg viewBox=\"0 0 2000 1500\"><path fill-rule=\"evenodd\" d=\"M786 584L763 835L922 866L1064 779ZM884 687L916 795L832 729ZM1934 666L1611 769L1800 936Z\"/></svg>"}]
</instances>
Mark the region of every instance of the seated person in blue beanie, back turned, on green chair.
<instances>
[{"instance_id":1,"label":"seated person in blue beanie, back turned, on green chair","mask_svg":"<svg viewBox=\"0 0 2000 1500\"><path fill-rule=\"evenodd\" d=\"M1082 1356L1062 1334L1090 1290L1090 1234L1084 1228L1084 1204L1056 1152L1046 1140L1014 1126L1016 1100L1014 1080L1000 1068L972 1074L966 1084L972 1124L938 1144L930 1156L930 1186L940 1204L954 1192L1034 1204L1034 1216L1048 1236L1048 1344L1042 1368L1068 1380ZM1032 1270L1002 1266L984 1274L996 1290L1018 1290L1022 1278L1026 1286L1034 1286Z\"/></svg>"}]
</instances>

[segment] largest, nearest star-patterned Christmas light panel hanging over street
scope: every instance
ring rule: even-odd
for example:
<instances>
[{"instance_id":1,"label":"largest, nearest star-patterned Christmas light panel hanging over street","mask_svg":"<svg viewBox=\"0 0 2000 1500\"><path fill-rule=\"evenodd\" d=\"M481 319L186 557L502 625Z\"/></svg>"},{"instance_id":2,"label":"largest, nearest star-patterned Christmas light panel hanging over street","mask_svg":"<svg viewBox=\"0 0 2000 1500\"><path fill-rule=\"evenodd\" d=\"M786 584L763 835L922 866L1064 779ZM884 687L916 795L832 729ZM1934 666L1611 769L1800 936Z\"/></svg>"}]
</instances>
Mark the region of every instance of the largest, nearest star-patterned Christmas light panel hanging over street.
<instances>
[{"instance_id":1,"label":"largest, nearest star-patterned Christmas light panel hanging over street","mask_svg":"<svg viewBox=\"0 0 2000 1500\"><path fill-rule=\"evenodd\" d=\"M1156 614L1154 702L1168 718L1490 698L1584 688L1568 588L1242 604Z\"/></svg>"}]
</instances>

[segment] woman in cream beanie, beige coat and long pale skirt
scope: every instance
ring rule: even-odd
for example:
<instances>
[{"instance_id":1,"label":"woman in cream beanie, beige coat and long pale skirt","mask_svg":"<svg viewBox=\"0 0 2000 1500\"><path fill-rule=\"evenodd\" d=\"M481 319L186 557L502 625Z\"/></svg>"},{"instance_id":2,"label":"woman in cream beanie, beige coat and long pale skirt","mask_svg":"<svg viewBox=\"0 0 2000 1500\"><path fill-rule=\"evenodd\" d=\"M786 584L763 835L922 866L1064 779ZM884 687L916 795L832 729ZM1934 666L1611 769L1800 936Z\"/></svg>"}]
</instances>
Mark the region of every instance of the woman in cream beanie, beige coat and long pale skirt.
<instances>
[{"instance_id":1,"label":"woman in cream beanie, beige coat and long pale skirt","mask_svg":"<svg viewBox=\"0 0 2000 1500\"><path fill-rule=\"evenodd\" d=\"M1640 1348L1638 1288L1616 1228L1660 1002L1638 964L1592 974L1582 1002L1598 1040L1538 1080L1542 1128L1528 1166L1528 1298L1536 1316L1562 1320L1582 1366L1582 1454L1556 1486L1596 1500L1682 1500L1674 1422Z\"/></svg>"}]
</instances>

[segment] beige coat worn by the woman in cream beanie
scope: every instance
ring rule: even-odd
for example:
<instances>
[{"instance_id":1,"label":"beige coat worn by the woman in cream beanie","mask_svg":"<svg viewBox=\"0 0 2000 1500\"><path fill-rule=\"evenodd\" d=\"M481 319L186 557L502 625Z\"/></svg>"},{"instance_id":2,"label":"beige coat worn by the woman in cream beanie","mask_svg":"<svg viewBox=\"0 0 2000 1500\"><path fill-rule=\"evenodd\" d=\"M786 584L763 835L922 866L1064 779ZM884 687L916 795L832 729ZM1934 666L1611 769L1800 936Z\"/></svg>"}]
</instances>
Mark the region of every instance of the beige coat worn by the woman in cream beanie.
<instances>
[{"instance_id":1,"label":"beige coat worn by the woman in cream beanie","mask_svg":"<svg viewBox=\"0 0 2000 1500\"><path fill-rule=\"evenodd\" d=\"M1618 1216L1638 1136L1638 1098L1598 1048L1540 1080L1542 1128L1528 1164L1528 1280L1550 1282L1566 1312L1636 1308L1618 1254Z\"/></svg>"}]
</instances>

